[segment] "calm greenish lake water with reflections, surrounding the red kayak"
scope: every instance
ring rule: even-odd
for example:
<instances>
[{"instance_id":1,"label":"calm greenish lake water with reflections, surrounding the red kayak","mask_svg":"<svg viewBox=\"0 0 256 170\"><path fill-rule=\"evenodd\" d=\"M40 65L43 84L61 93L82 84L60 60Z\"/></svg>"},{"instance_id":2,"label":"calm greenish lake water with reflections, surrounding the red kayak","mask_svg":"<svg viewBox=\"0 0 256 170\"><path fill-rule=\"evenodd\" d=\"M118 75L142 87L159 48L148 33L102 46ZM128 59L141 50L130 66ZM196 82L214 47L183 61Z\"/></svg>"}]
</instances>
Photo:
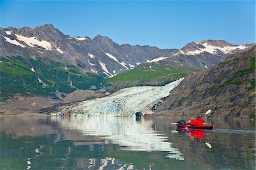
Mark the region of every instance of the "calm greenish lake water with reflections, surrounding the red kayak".
<instances>
[{"instance_id":1,"label":"calm greenish lake water with reflections, surrounding the red kayak","mask_svg":"<svg viewBox=\"0 0 256 170\"><path fill-rule=\"evenodd\" d=\"M255 169L255 121L0 116L0 169Z\"/></svg>"}]
</instances>

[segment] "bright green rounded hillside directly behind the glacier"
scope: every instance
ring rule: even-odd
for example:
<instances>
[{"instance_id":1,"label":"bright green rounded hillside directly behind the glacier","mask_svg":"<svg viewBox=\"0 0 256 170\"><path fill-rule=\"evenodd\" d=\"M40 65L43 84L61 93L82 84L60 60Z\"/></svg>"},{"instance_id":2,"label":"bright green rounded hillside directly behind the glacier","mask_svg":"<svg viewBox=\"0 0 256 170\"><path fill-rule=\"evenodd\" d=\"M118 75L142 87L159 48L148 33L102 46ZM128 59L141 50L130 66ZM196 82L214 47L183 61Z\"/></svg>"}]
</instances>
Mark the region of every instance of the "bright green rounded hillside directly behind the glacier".
<instances>
[{"instance_id":1,"label":"bright green rounded hillside directly behind the glacier","mask_svg":"<svg viewBox=\"0 0 256 170\"><path fill-rule=\"evenodd\" d=\"M187 65L176 65L167 61L144 63L131 71L118 74L106 80L109 90L118 90L130 86L164 85L199 69Z\"/></svg>"}]
</instances>

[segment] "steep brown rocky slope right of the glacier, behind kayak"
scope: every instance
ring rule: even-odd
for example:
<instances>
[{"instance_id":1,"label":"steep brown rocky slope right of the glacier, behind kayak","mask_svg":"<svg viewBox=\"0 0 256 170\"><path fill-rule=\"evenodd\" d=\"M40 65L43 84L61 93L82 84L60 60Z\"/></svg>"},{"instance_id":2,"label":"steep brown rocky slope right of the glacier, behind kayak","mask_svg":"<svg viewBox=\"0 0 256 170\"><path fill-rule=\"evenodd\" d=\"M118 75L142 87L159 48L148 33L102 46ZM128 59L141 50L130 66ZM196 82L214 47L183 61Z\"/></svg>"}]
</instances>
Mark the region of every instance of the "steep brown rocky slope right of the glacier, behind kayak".
<instances>
[{"instance_id":1,"label":"steep brown rocky slope right of the glacier, behind kayak","mask_svg":"<svg viewBox=\"0 0 256 170\"><path fill-rule=\"evenodd\" d=\"M209 118L255 117L255 47L192 73L170 92L156 113L189 117L212 109Z\"/></svg>"}]
</instances>

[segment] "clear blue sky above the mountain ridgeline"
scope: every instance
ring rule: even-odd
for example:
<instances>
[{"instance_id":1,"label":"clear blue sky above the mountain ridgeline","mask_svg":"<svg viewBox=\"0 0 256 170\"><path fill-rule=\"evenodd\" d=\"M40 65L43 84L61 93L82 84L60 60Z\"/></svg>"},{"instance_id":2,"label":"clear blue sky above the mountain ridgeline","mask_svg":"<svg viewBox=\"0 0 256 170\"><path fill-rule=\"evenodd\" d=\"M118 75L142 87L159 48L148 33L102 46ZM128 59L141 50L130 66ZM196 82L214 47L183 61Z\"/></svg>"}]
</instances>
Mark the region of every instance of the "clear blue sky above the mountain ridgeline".
<instances>
[{"instance_id":1,"label":"clear blue sky above the mountain ridgeline","mask_svg":"<svg viewBox=\"0 0 256 170\"><path fill-rule=\"evenodd\" d=\"M182 48L204 39L255 43L255 1L2 1L0 27L52 23L65 35Z\"/></svg>"}]
</instances>

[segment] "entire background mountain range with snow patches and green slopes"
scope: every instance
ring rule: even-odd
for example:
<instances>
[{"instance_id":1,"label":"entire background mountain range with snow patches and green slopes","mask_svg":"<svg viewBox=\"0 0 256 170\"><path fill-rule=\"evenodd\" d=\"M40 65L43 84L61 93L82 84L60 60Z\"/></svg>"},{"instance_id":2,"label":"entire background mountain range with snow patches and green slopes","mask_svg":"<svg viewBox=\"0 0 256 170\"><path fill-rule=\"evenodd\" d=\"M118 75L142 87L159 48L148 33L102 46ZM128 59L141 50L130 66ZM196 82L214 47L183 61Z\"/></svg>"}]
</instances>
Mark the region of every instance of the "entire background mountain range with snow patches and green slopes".
<instances>
[{"instance_id":1,"label":"entire background mountain range with snow patches and green slopes","mask_svg":"<svg viewBox=\"0 0 256 170\"><path fill-rule=\"evenodd\" d=\"M1 98L16 93L63 98L77 89L163 85L253 45L203 40L181 49L159 49L119 45L101 35L64 35L52 24L0 27Z\"/></svg>"}]
</instances>

